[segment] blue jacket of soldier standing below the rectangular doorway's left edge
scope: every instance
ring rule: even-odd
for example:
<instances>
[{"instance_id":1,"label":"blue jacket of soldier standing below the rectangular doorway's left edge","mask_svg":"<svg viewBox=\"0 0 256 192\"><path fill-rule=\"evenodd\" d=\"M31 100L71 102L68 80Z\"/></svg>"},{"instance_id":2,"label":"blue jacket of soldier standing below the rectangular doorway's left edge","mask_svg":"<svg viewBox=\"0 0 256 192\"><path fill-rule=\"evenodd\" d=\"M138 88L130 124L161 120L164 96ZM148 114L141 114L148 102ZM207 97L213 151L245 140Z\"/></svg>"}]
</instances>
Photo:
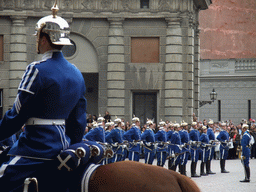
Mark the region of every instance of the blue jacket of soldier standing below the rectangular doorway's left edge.
<instances>
[{"instance_id":1,"label":"blue jacket of soldier standing below the rectangular doorway's left edge","mask_svg":"<svg viewBox=\"0 0 256 192\"><path fill-rule=\"evenodd\" d=\"M140 144L133 144L133 141L140 141L141 140L141 132L140 129L136 126L133 126L130 130L124 133L124 140L130 142L130 151L140 153Z\"/></svg>"}]
</instances>

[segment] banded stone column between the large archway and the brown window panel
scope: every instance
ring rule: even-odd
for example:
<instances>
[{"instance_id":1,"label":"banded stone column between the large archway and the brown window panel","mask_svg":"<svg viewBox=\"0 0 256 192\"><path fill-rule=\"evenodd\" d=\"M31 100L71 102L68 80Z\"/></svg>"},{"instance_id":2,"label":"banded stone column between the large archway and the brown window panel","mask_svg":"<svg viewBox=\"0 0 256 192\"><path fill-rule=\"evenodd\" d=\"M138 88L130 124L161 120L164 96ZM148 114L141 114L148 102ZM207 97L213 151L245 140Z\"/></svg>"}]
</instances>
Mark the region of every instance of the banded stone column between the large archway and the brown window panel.
<instances>
[{"instance_id":1,"label":"banded stone column between the large archway and the brown window panel","mask_svg":"<svg viewBox=\"0 0 256 192\"><path fill-rule=\"evenodd\" d=\"M123 18L109 18L107 110L112 118L124 118L125 64Z\"/></svg>"}]
</instances>

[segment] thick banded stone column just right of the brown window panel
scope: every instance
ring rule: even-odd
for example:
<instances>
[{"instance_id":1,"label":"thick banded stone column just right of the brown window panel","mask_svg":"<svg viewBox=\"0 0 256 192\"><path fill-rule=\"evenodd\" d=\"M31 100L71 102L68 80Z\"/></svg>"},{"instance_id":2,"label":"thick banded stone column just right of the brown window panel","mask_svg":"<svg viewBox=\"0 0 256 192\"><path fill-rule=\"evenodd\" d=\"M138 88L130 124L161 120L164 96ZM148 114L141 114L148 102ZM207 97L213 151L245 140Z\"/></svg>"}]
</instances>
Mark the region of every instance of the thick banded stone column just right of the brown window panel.
<instances>
[{"instance_id":1,"label":"thick banded stone column just right of the brown window panel","mask_svg":"<svg viewBox=\"0 0 256 192\"><path fill-rule=\"evenodd\" d=\"M166 21L165 119L179 122L183 114L181 18L174 14Z\"/></svg>"}]
</instances>

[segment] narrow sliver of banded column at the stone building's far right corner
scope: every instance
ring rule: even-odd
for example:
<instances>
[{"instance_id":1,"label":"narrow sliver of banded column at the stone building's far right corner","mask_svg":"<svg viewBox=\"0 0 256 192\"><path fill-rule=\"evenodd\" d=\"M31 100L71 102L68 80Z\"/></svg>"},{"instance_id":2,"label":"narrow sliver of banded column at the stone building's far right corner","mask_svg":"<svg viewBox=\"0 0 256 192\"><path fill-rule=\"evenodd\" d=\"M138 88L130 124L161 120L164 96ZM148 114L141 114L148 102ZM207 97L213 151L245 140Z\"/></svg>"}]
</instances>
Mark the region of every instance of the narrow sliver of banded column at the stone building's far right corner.
<instances>
[{"instance_id":1,"label":"narrow sliver of banded column at the stone building's far right corner","mask_svg":"<svg viewBox=\"0 0 256 192\"><path fill-rule=\"evenodd\" d=\"M199 81L199 67L200 67L200 30L198 29L198 11L195 14L195 26L194 26L194 113L199 117L199 94L200 94L200 81Z\"/></svg>"}]
</instances>

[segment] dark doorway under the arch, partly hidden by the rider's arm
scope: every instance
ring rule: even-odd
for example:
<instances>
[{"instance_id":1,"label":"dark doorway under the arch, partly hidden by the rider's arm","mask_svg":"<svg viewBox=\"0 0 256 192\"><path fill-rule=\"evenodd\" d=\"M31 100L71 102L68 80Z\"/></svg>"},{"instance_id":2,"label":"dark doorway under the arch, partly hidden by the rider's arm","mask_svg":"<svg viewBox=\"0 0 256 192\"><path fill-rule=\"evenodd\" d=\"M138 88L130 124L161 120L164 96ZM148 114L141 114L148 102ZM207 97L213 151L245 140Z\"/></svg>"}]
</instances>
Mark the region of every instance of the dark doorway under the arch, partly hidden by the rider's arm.
<instances>
[{"instance_id":1,"label":"dark doorway under the arch, partly hidden by the rider's arm","mask_svg":"<svg viewBox=\"0 0 256 192\"><path fill-rule=\"evenodd\" d=\"M87 114L96 115L98 117L98 73L83 73L87 100Z\"/></svg>"}]
</instances>

